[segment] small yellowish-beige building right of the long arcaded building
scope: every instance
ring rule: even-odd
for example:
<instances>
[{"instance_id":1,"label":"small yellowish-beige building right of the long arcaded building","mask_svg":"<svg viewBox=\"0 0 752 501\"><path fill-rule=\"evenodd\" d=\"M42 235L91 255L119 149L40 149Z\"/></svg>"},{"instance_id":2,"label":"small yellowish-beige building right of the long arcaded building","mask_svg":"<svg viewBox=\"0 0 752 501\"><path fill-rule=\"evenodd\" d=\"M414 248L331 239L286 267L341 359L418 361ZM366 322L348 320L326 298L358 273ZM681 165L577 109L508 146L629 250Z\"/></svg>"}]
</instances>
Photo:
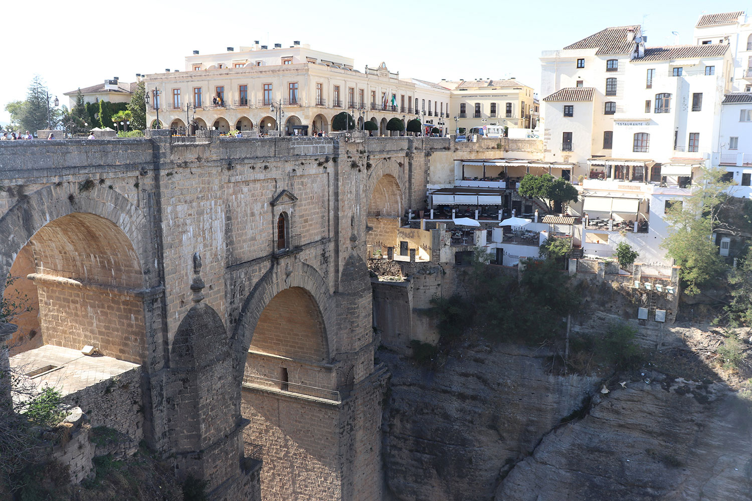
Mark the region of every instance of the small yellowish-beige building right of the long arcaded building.
<instances>
[{"instance_id":1,"label":"small yellowish-beige building right of the long arcaded building","mask_svg":"<svg viewBox=\"0 0 752 501\"><path fill-rule=\"evenodd\" d=\"M449 118L455 127L501 125L509 128L531 128L530 110L535 104L532 87L512 78L509 80L441 80L450 89ZM456 117L456 120L454 119Z\"/></svg>"}]
</instances>

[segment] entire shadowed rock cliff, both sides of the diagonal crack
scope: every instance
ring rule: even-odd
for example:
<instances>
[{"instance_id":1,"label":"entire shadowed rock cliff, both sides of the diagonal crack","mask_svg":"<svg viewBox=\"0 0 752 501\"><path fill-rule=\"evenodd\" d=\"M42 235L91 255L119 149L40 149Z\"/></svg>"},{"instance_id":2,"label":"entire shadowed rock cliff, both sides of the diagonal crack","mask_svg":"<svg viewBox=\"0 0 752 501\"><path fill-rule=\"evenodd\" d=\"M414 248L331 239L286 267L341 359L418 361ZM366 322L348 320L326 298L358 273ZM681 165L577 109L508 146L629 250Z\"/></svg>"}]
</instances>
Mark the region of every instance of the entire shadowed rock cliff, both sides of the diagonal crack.
<instances>
[{"instance_id":1,"label":"entire shadowed rock cliff, both sides of the diagonal crack","mask_svg":"<svg viewBox=\"0 0 752 501\"><path fill-rule=\"evenodd\" d=\"M466 349L431 371L379 352L384 499L752 499L752 413L726 385L645 373L601 394L547 355Z\"/></svg>"}]
</instances>

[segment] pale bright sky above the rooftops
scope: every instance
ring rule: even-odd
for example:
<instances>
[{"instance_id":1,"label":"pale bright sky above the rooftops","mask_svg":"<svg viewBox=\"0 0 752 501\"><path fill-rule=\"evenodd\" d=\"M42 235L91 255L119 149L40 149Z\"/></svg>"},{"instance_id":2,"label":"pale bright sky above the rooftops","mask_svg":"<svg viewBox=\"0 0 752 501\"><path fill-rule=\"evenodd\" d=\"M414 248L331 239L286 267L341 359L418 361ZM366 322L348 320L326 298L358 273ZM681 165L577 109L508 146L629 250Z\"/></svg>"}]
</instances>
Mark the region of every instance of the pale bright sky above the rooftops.
<instances>
[{"instance_id":1,"label":"pale bright sky above the rooftops","mask_svg":"<svg viewBox=\"0 0 752 501\"><path fill-rule=\"evenodd\" d=\"M11 4L9 4L11 5ZM8 101L23 99L40 74L62 92L106 78L183 69L192 50L292 45L355 59L356 67L387 62L404 77L424 80L517 77L538 88L541 50L578 41L607 26L643 24L648 46L690 43L703 11L741 11L727 0L700 2L32 2L5 9L0 32L0 122ZM10 12L18 16L11 16ZM644 23L643 23L643 16ZM33 24L32 24L33 23Z\"/></svg>"}]
</instances>

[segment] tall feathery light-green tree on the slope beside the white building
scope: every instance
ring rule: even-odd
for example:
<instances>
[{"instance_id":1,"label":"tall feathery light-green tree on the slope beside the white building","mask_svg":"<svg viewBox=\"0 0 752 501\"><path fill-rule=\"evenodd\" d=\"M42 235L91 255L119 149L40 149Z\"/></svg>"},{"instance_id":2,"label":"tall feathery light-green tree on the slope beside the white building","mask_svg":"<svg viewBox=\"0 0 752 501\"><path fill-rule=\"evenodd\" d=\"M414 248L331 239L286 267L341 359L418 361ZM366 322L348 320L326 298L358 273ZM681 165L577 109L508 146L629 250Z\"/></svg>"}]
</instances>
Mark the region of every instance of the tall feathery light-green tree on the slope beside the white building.
<instances>
[{"instance_id":1,"label":"tall feathery light-green tree on the slope beside the white building","mask_svg":"<svg viewBox=\"0 0 752 501\"><path fill-rule=\"evenodd\" d=\"M698 294L702 286L710 285L726 270L713 243L714 232L721 228L720 213L729 203L725 190L733 184L723 181L723 174L717 168L703 168L692 196L666 204L669 236L661 246L681 266L679 276L690 295Z\"/></svg>"}]
</instances>

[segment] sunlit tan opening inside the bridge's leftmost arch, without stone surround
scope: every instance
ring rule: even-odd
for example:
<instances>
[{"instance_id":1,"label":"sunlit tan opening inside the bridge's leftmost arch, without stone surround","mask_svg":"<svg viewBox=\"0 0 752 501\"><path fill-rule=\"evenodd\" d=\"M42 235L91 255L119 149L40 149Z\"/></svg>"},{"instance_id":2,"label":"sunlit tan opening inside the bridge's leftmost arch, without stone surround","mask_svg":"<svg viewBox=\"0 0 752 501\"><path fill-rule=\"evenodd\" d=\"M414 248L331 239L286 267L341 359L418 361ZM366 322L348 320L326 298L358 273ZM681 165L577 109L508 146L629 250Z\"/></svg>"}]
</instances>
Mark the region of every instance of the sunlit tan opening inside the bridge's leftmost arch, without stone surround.
<instances>
[{"instance_id":1,"label":"sunlit tan opening inside the bridge's leftmost arch, without stone surround","mask_svg":"<svg viewBox=\"0 0 752 501\"><path fill-rule=\"evenodd\" d=\"M129 237L114 222L92 213L53 219L23 246L11 275L20 278L3 297L23 290L38 308L36 318L20 318L29 330L17 333L22 343L15 352L41 344L89 345L102 355L146 363L143 297L133 292L143 290L144 274Z\"/></svg>"}]
</instances>

